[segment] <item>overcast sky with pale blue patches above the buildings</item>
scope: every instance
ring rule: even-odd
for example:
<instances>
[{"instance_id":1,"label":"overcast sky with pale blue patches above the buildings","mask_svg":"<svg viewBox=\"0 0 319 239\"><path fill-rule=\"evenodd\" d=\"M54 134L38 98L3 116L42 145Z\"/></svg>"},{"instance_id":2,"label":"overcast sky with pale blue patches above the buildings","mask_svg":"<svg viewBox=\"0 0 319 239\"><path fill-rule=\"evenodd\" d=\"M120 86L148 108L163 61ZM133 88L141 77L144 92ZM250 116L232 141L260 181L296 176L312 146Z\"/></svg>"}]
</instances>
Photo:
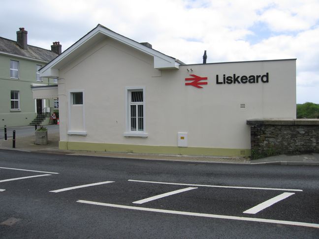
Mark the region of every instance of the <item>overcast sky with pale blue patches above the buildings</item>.
<instances>
[{"instance_id":1,"label":"overcast sky with pale blue patches above the buildings","mask_svg":"<svg viewBox=\"0 0 319 239\"><path fill-rule=\"evenodd\" d=\"M297 59L297 103L319 103L319 0L0 0L0 36L64 51L97 24L187 64Z\"/></svg>"}]
</instances>

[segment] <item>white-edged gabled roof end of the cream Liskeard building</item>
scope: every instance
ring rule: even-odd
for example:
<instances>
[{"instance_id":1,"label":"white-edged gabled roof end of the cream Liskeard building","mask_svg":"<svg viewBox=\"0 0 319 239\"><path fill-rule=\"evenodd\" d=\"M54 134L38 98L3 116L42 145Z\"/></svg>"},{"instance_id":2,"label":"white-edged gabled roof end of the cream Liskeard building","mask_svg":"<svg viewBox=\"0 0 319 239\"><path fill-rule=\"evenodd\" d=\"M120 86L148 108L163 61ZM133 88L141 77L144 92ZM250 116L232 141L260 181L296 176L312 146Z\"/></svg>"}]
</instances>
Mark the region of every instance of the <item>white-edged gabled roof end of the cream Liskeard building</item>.
<instances>
[{"instance_id":1,"label":"white-edged gabled roof end of the cream Liskeard building","mask_svg":"<svg viewBox=\"0 0 319 239\"><path fill-rule=\"evenodd\" d=\"M179 65L184 64L182 61L175 58L169 57L159 51L149 48L137 41L129 39L121 34L118 34L100 24L96 26L93 30L88 32L85 36L75 42L72 46L66 49L61 55L56 59L52 60L49 64L40 69L40 76L43 77L59 77L59 68L64 65L64 63L73 60L74 56L85 51L87 47L95 44L97 41L103 37L110 37L116 41L124 43L130 47L135 48L141 52L144 52L150 56L154 57L154 68L156 69L178 69Z\"/></svg>"}]
</instances>

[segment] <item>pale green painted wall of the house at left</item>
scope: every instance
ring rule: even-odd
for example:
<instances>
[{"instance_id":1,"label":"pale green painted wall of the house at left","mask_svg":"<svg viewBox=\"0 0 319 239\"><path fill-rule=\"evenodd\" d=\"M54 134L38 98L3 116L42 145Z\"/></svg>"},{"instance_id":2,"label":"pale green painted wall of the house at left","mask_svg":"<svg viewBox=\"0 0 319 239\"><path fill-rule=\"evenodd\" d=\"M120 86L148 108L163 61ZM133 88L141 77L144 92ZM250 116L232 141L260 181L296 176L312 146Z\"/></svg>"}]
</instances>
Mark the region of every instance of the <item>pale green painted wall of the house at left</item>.
<instances>
[{"instance_id":1,"label":"pale green painted wall of the house at left","mask_svg":"<svg viewBox=\"0 0 319 239\"><path fill-rule=\"evenodd\" d=\"M10 60L19 62L19 79L10 78ZM0 54L0 128L28 125L36 117L36 100L32 96L32 84L55 85L53 79L36 81L37 66L47 62L29 60ZM19 91L20 109L11 110L11 90ZM42 108L54 107L53 99L43 100Z\"/></svg>"}]
</instances>

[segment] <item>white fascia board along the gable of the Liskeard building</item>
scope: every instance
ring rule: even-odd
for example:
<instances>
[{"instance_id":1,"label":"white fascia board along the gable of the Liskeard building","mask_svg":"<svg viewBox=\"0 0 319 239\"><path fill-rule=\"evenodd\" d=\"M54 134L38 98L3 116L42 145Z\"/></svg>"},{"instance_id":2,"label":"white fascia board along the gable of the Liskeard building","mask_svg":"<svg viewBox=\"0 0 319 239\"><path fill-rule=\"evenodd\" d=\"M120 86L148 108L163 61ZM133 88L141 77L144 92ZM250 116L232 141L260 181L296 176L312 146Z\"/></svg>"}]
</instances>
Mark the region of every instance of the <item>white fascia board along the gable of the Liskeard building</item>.
<instances>
[{"instance_id":1,"label":"white fascia board along the gable of the Liskeard building","mask_svg":"<svg viewBox=\"0 0 319 239\"><path fill-rule=\"evenodd\" d=\"M59 70L58 69L52 69L57 63L64 60L65 57L67 57L69 54L71 54L75 49L77 49L79 46L81 46L83 43L89 41L91 38L93 38L96 34L102 33L110 38L113 38L119 42L122 42L128 46L131 46L141 52L144 52L148 55L151 55L154 57L154 68L157 69L178 69L179 63L175 61L174 58L168 57L158 51L153 50L152 48L149 48L147 46L144 46L136 41L133 41L125 36L122 36L114 31L107 30L101 26L96 27L96 29L89 32L87 35L82 37L78 42L76 42L74 45L69 47L66 51L64 51L60 56L58 56L56 59L52 60L49 64L45 65L40 69L40 76L43 77L59 77ZM50 71L48 71L50 69ZM52 69L52 70L51 70ZM41 75L41 73L43 75Z\"/></svg>"}]
</instances>

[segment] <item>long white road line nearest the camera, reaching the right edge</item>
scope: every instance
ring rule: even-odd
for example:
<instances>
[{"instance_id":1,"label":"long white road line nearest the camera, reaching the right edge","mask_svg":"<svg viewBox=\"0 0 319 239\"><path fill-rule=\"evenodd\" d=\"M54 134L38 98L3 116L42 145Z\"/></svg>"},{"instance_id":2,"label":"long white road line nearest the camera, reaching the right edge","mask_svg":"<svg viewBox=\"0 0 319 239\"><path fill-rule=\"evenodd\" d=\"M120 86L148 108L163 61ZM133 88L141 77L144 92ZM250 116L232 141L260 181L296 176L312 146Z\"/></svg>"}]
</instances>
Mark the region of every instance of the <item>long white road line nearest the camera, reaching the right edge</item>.
<instances>
[{"instance_id":1,"label":"long white road line nearest the camera, reaching the right edge","mask_svg":"<svg viewBox=\"0 0 319 239\"><path fill-rule=\"evenodd\" d=\"M239 221L267 222L267 223L276 223L276 224L286 224L286 225L292 225L292 226L319 228L319 224L307 223L307 222L293 222L293 221L282 221L282 220L272 220L272 219L263 219L263 218L253 218L253 217L206 214L206 213L189 212L189 211L174 211L174 210L165 210L165 209L140 208L140 207L131 207L131 206L125 206L125 205L108 204L108 203L99 203L99 202L92 202L92 201L85 201L85 200L78 200L76 202L111 207L111 208L120 208L120 209L133 209L133 210L140 210L140 211L153 211L153 212L178 214L178 215L221 218L221 219L231 219L231 220L239 220Z\"/></svg>"}]
</instances>

